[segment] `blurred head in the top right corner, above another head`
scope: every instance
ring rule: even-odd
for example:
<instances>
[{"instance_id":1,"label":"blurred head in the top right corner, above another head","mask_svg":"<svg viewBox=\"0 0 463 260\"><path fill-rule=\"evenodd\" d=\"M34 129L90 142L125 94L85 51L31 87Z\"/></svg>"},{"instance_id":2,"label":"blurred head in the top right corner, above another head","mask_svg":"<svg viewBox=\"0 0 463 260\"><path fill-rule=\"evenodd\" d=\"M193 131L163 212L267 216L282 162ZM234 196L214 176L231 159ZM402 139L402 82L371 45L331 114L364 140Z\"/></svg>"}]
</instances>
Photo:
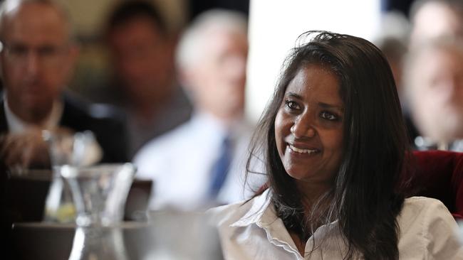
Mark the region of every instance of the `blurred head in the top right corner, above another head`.
<instances>
[{"instance_id":1,"label":"blurred head in the top right corner, above another head","mask_svg":"<svg viewBox=\"0 0 463 260\"><path fill-rule=\"evenodd\" d=\"M462 38L463 1L417 0L410 9L410 48L435 38Z\"/></svg>"}]
</instances>

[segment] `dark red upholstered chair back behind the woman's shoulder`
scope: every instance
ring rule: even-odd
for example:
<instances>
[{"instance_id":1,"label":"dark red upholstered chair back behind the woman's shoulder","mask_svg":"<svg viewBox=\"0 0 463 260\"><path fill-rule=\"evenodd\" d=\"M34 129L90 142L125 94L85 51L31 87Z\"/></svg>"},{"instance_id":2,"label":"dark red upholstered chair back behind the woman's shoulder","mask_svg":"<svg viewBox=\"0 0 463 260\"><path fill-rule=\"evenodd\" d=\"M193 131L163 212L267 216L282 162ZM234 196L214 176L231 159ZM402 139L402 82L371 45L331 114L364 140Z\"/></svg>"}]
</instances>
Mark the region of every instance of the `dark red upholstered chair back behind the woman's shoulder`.
<instances>
[{"instance_id":1,"label":"dark red upholstered chair back behind the woman's shoulder","mask_svg":"<svg viewBox=\"0 0 463 260\"><path fill-rule=\"evenodd\" d=\"M463 219L463 153L414 151L411 195L434 197Z\"/></svg>"}]
</instances>

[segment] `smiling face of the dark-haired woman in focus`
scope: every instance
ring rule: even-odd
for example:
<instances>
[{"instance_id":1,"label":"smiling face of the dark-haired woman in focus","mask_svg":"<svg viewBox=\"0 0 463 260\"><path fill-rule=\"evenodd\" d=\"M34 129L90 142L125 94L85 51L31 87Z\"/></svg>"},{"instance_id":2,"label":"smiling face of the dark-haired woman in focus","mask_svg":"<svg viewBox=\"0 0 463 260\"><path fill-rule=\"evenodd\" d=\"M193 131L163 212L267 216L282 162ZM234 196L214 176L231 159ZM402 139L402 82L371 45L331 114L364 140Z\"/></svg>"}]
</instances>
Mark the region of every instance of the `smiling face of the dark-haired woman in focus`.
<instances>
[{"instance_id":1,"label":"smiling face of the dark-haired woman in focus","mask_svg":"<svg viewBox=\"0 0 463 260\"><path fill-rule=\"evenodd\" d=\"M339 169L344 124L339 88L338 77L321 65L306 65L286 88L275 139L286 173L296 180L326 185Z\"/></svg>"}]
</instances>

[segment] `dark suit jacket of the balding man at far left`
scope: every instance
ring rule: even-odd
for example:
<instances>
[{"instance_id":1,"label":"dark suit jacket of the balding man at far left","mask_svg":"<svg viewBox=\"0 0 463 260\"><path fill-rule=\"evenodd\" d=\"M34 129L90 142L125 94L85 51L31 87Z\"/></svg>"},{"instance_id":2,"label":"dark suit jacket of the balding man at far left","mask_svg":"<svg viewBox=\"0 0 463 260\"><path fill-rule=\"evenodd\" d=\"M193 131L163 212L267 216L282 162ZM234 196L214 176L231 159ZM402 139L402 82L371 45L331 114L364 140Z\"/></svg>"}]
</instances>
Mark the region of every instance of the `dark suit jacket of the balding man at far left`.
<instances>
[{"instance_id":1,"label":"dark suit jacket of the balding man at far left","mask_svg":"<svg viewBox=\"0 0 463 260\"><path fill-rule=\"evenodd\" d=\"M59 125L73 131L90 130L103 150L100 163L123 163L128 158L128 141L123 116L113 107L88 104L71 94L63 95L63 115ZM0 102L0 134L7 133L4 100Z\"/></svg>"}]
</instances>

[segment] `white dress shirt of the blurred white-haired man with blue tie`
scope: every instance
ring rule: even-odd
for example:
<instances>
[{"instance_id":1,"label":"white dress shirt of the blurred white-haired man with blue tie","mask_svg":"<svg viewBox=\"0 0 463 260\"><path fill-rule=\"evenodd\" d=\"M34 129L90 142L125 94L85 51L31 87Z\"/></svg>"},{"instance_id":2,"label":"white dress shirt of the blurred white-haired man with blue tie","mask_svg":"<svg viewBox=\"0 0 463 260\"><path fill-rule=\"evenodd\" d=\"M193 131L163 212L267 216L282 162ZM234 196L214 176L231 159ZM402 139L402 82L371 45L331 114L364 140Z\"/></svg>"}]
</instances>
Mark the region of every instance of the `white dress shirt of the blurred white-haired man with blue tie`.
<instances>
[{"instance_id":1,"label":"white dress shirt of the blurred white-haired man with blue tie","mask_svg":"<svg viewBox=\"0 0 463 260\"><path fill-rule=\"evenodd\" d=\"M244 187L247 148L252 128L242 121L224 126L209 114L192 119L147 143L135 155L136 178L154 181L150 209L175 207L193 210L207 206L212 166L217 161L224 136L231 134L232 159L217 200L224 204L250 197ZM261 185L263 180L253 185Z\"/></svg>"}]
</instances>

